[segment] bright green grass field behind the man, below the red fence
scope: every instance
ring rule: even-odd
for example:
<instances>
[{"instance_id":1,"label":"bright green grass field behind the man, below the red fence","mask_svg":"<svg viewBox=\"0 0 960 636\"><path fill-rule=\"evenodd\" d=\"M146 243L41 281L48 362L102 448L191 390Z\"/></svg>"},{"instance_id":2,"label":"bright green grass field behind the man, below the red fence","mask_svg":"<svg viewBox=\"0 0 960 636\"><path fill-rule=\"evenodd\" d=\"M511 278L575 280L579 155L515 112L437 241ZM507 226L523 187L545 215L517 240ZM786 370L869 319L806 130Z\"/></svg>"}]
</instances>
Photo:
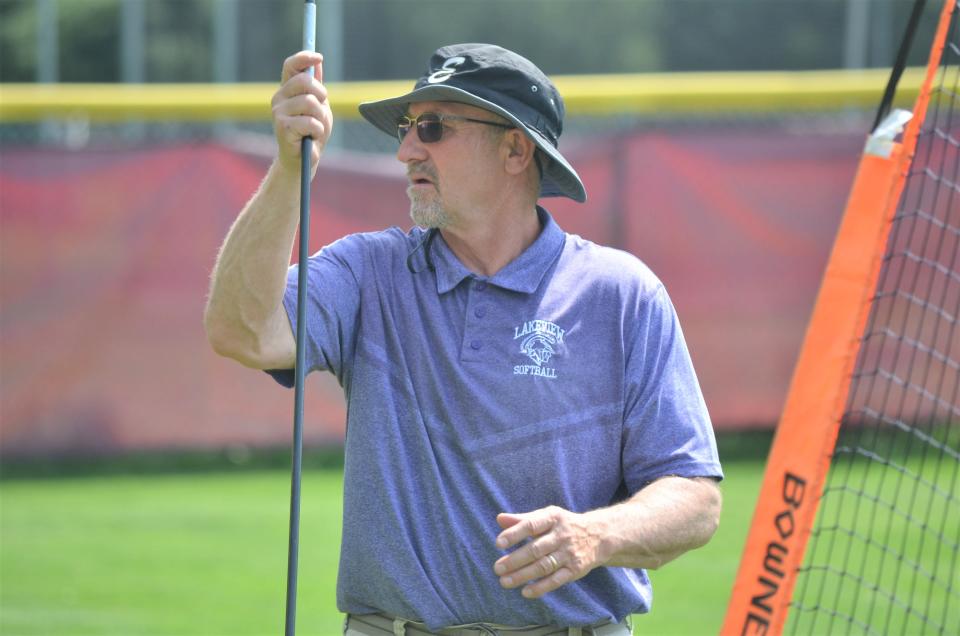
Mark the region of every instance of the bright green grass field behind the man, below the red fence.
<instances>
[{"instance_id":1,"label":"bright green grass field behind the man, below the red fence","mask_svg":"<svg viewBox=\"0 0 960 636\"><path fill-rule=\"evenodd\" d=\"M643 634L719 630L763 463L727 461L720 530L653 572ZM304 473L297 629L338 634L342 477ZM280 634L286 471L0 481L0 633Z\"/></svg>"}]
</instances>

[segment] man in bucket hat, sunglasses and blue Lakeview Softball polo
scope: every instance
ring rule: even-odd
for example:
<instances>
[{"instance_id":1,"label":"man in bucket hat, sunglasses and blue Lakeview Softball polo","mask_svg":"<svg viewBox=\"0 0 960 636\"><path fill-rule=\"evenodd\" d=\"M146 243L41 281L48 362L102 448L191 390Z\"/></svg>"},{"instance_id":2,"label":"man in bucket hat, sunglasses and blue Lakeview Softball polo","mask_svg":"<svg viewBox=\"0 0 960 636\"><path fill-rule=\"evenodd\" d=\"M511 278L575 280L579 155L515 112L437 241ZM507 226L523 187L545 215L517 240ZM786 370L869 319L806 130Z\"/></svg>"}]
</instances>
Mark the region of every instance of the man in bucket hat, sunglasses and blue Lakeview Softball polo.
<instances>
[{"instance_id":1,"label":"man in bucket hat, sunglasses and blue Lakeview Softball polo","mask_svg":"<svg viewBox=\"0 0 960 636\"><path fill-rule=\"evenodd\" d=\"M586 193L557 148L560 95L528 60L444 47L412 92L360 112L398 136L418 227L308 263L308 370L348 403L346 633L629 633L644 568L706 543L720 511L663 285L538 207ZM273 118L278 156L227 236L205 326L289 386L300 139L315 171L332 126L320 55L286 60Z\"/></svg>"}]
</instances>

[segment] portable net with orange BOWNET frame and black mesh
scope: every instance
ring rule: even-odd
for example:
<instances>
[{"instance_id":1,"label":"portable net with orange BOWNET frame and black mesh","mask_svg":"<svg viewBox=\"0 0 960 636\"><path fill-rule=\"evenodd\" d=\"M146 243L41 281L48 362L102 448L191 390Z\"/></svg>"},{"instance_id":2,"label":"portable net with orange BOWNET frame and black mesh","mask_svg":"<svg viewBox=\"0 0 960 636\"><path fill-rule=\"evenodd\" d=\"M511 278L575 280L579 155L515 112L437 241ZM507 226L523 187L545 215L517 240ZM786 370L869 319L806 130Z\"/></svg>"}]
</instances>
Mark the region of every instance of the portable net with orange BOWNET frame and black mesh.
<instances>
[{"instance_id":1,"label":"portable net with orange BOWNET frame and black mesh","mask_svg":"<svg viewBox=\"0 0 960 636\"><path fill-rule=\"evenodd\" d=\"M861 160L724 634L960 633L957 13L902 142Z\"/></svg>"}]
</instances>

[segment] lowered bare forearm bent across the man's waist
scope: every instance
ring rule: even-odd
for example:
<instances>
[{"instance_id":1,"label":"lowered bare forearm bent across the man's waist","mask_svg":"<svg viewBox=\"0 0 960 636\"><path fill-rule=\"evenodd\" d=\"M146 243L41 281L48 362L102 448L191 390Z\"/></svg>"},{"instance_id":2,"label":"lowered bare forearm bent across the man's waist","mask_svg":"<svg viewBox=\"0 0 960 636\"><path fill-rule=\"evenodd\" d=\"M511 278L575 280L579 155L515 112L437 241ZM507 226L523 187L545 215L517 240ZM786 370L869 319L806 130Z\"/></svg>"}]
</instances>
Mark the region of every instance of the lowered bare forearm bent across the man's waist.
<instances>
[{"instance_id":1,"label":"lowered bare forearm bent across the man's waist","mask_svg":"<svg viewBox=\"0 0 960 636\"><path fill-rule=\"evenodd\" d=\"M587 513L601 538L604 565L655 569L707 543L721 496L709 478L664 477L627 501Z\"/></svg>"}]
</instances>

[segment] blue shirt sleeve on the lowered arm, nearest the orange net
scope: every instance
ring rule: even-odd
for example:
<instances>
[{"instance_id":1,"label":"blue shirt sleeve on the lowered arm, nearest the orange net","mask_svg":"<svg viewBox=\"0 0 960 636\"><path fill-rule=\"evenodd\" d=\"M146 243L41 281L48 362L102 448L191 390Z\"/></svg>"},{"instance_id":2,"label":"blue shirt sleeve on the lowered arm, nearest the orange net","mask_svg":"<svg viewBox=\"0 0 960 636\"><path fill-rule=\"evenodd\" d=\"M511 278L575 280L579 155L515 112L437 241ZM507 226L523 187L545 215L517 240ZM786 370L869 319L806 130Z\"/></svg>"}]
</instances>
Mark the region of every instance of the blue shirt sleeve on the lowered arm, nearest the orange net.
<instances>
[{"instance_id":1,"label":"blue shirt sleeve on the lowered arm, nearest the orange net","mask_svg":"<svg viewBox=\"0 0 960 636\"><path fill-rule=\"evenodd\" d=\"M635 493L667 475L722 478L700 384L663 285L635 305L625 349L623 467Z\"/></svg>"}]
</instances>

